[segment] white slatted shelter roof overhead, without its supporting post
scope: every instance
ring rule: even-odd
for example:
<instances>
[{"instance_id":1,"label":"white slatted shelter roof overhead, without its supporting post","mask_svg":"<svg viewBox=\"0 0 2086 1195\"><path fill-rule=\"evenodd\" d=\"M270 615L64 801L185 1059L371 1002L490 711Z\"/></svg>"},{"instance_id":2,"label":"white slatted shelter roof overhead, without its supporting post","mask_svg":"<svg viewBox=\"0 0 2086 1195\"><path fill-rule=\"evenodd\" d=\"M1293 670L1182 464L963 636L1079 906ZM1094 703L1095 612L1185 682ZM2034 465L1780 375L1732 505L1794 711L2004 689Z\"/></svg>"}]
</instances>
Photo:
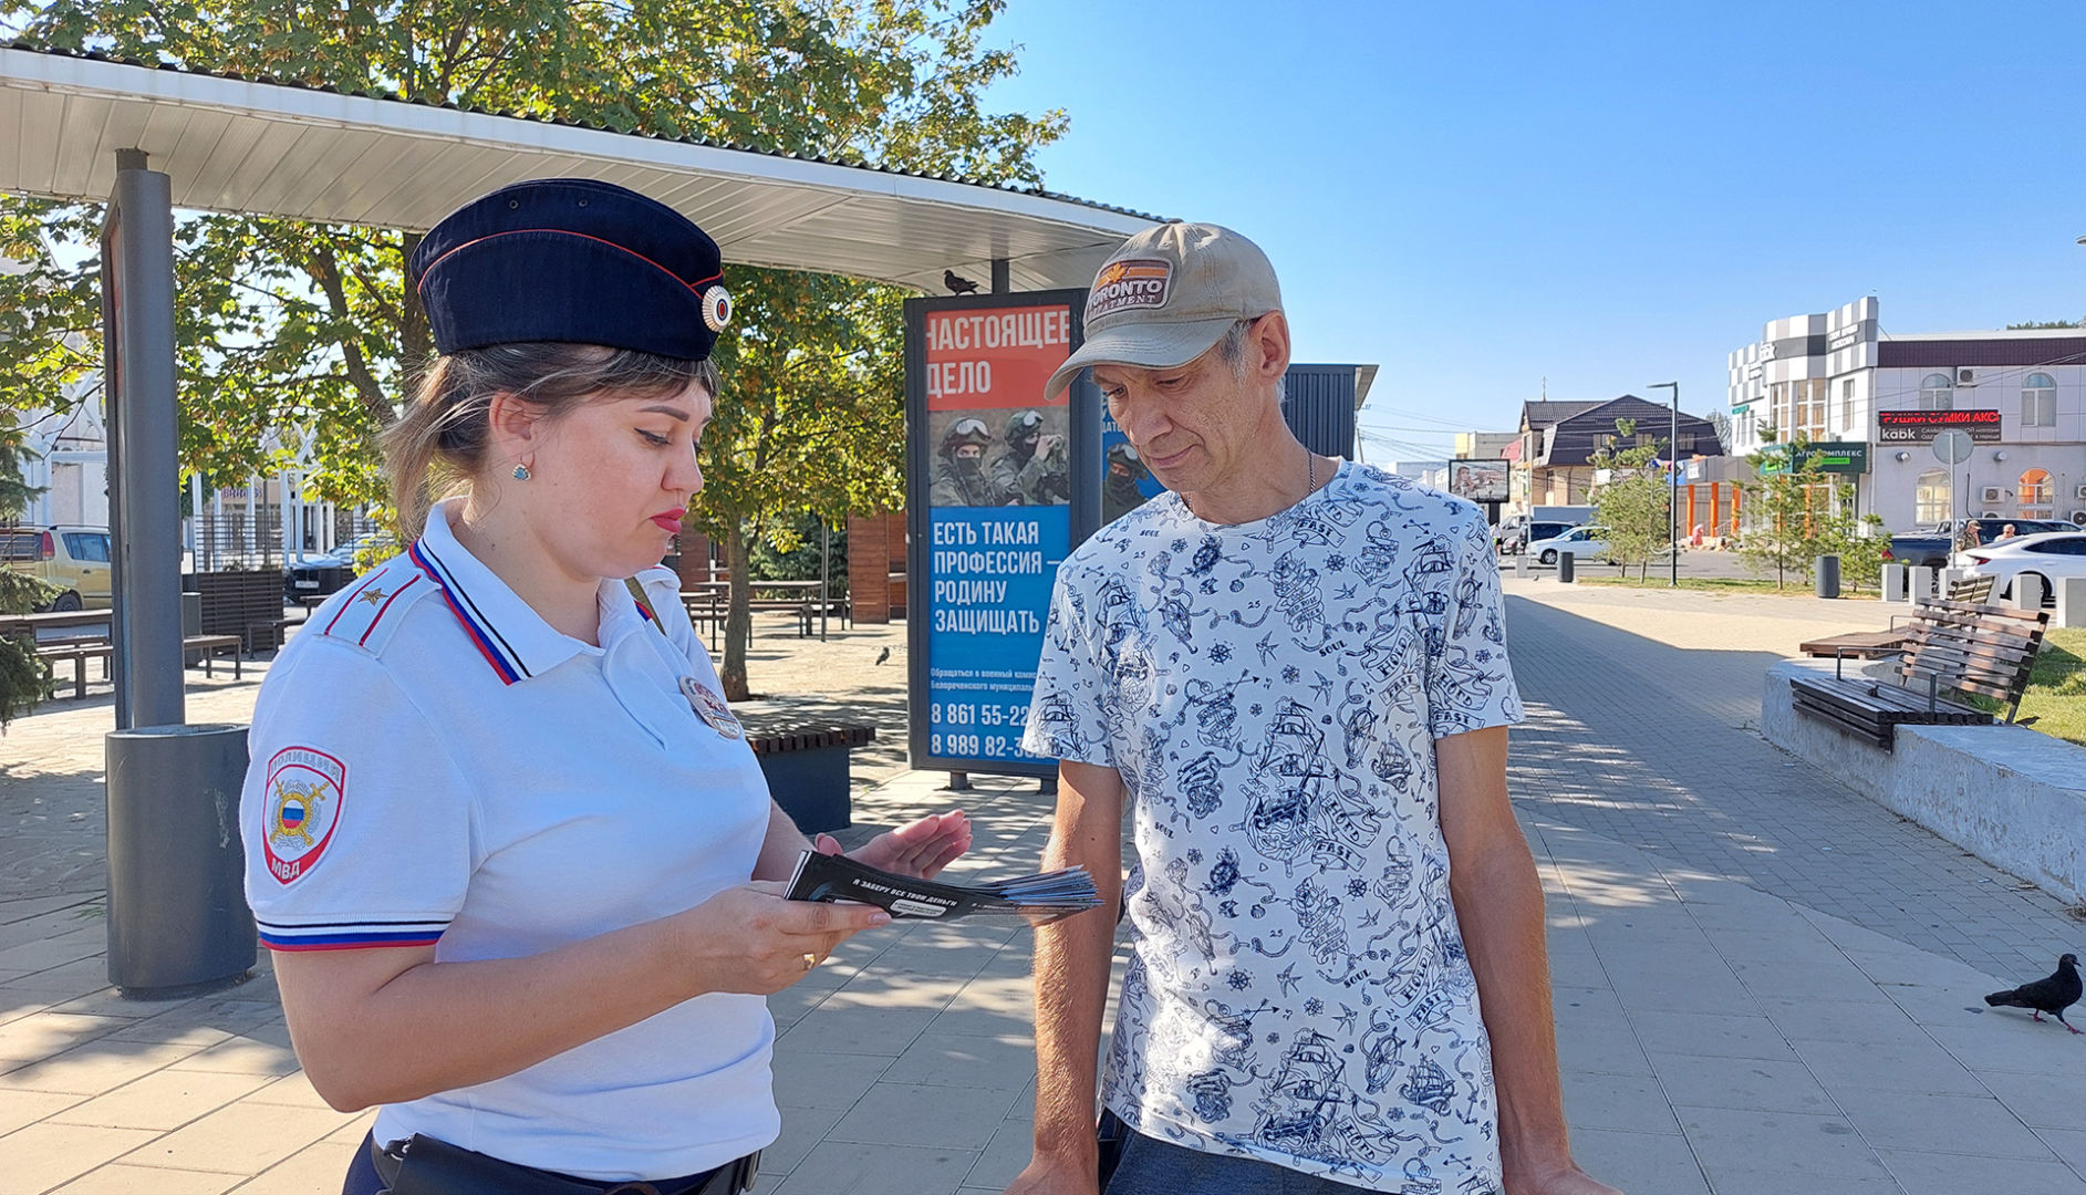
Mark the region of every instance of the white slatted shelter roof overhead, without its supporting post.
<instances>
[{"instance_id":1,"label":"white slatted shelter roof overhead, without its supporting post","mask_svg":"<svg viewBox=\"0 0 2086 1195\"><path fill-rule=\"evenodd\" d=\"M943 290L1008 263L1010 290L1087 286L1158 217L705 142L615 133L94 54L0 48L0 190L106 200L144 150L173 206L428 229L530 177L595 177L703 225L726 263Z\"/></svg>"}]
</instances>

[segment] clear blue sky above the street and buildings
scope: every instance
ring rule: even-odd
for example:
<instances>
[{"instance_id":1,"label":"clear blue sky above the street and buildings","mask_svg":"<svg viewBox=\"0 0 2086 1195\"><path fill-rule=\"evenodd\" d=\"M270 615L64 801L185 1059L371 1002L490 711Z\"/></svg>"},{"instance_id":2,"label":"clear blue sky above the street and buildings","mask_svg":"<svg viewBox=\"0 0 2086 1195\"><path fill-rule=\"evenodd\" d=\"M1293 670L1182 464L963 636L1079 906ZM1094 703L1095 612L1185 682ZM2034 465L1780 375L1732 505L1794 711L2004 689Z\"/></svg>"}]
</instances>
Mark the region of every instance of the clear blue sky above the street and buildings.
<instances>
[{"instance_id":1,"label":"clear blue sky above the street and buildings","mask_svg":"<svg viewBox=\"0 0 2086 1195\"><path fill-rule=\"evenodd\" d=\"M1725 400L1769 319L2086 317L2086 6L1012 0L1051 190L1268 250L1368 459L1521 403ZM1663 392L1660 392L1663 394ZM1398 444L1389 444L1396 440Z\"/></svg>"}]
</instances>

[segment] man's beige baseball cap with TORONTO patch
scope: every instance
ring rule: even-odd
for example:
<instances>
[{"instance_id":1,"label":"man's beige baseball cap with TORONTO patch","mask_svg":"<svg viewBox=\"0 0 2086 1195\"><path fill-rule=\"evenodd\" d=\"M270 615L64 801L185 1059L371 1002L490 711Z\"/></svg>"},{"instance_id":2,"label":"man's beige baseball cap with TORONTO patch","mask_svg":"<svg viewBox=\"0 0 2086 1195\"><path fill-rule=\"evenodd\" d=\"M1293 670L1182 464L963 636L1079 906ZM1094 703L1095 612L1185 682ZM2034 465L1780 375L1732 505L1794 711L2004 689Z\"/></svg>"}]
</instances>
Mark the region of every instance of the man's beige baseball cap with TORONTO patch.
<instances>
[{"instance_id":1,"label":"man's beige baseball cap with TORONTO patch","mask_svg":"<svg viewBox=\"0 0 2086 1195\"><path fill-rule=\"evenodd\" d=\"M1208 352L1233 323L1281 311L1283 288L1260 246L1214 223L1164 223L1122 242L1087 292L1087 340L1043 400L1087 365L1172 369Z\"/></svg>"}]
</instances>

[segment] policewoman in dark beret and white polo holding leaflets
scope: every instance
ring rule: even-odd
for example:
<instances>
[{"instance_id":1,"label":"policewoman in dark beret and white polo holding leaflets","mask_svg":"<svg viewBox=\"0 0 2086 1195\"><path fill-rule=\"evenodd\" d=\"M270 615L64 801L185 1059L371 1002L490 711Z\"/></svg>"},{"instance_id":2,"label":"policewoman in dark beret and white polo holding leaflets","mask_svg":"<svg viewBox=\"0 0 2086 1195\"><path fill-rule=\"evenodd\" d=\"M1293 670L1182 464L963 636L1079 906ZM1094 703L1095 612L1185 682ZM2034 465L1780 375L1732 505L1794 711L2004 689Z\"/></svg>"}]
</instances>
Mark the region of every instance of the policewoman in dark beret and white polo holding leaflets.
<instances>
[{"instance_id":1,"label":"policewoman in dark beret and white polo holding leaflets","mask_svg":"<svg viewBox=\"0 0 2086 1195\"><path fill-rule=\"evenodd\" d=\"M386 450L417 540L282 653L242 799L298 1057L382 1105L348 1195L751 1182L761 997L887 920L780 899L807 843L647 569L703 486L718 269L672 209L578 179L413 254L440 357ZM935 874L968 843L955 811L859 857Z\"/></svg>"}]
</instances>

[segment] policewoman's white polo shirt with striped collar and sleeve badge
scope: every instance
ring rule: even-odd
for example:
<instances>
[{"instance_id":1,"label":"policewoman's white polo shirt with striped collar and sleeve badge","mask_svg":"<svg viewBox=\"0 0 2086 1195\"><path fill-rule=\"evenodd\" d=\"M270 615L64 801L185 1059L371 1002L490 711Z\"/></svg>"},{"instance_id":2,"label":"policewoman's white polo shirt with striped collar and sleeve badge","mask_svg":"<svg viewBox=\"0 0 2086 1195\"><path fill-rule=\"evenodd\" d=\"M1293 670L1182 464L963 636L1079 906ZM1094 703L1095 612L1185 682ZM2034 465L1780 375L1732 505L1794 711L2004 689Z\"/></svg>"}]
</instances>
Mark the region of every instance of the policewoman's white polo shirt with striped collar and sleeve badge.
<instances>
[{"instance_id":1,"label":"policewoman's white polo shirt with striped collar and sleeve badge","mask_svg":"<svg viewBox=\"0 0 2086 1195\"><path fill-rule=\"evenodd\" d=\"M768 784L674 574L638 578L665 634L603 582L588 647L463 551L453 513L436 507L411 551L313 611L261 686L240 830L269 949L526 957L753 874ZM761 997L703 995L386 1105L375 1137L595 1180L693 1174L776 1139L772 1045Z\"/></svg>"}]
</instances>

